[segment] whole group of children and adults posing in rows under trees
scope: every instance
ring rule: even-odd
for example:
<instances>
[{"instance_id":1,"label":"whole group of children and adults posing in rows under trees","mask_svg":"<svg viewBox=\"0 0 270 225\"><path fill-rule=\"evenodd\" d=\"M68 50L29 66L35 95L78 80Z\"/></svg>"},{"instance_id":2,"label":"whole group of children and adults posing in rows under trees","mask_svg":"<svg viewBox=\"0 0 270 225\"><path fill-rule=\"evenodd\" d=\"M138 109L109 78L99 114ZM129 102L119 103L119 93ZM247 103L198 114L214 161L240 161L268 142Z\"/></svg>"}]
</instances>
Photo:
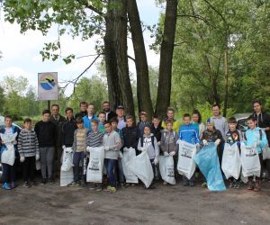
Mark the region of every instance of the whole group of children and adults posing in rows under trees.
<instances>
[{"instance_id":1,"label":"whole group of children and adults posing in rows under trees","mask_svg":"<svg viewBox=\"0 0 270 225\"><path fill-rule=\"evenodd\" d=\"M153 116L148 120L147 112L139 112L139 122L135 118L125 115L124 107L118 105L116 112L111 110L109 102L103 103L103 112L94 113L94 104L81 102L80 112L74 114L72 108L67 108L66 118L59 114L58 104L53 104L50 111L42 112L42 121L38 121L34 129L31 119L23 121L23 130L13 125L11 116L4 117L2 134L17 133L17 138L7 143L1 140L3 155L9 146L14 147L15 157L23 164L23 186L35 185L36 161L40 161L41 183L53 184L61 166L63 149L72 148L73 154L73 182L67 186L86 186L85 167L89 161L90 148L104 148L104 166L108 181L105 191L115 193L117 186L127 187L122 169L121 156L123 149L134 148L138 156L147 151L154 175L157 175L158 157L172 156L177 162L179 141L197 145L198 148L214 142L217 153L222 161L225 143L234 144L245 141L247 146L257 149L261 167L266 166L270 177L270 160L263 161L262 150L270 143L270 115L263 111L262 103L254 101L254 112L247 119L248 130L242 133L237 130L238 121L231 117L227 121L220 115L220 106L212 105L212 116L202 122L200 112L194 110L192 114L185 113L183 121L175 120L174 109L168 108L166 118L160 120ZM2 136L1 136L2 137ZM240 145L238 145L240 151ZM16 162L3 166L3 188L11 190L15 187ZM261 172L263 169L261 169ZM185 186L194 186L196 173L190 178L183 175ZM256 178L248 177L248 190L259 191L262 173ZM150 188L155 188L155 179ZM240 180L229 178L229 186L238 188ZM163 184L166 185L166 182ZM207 186L204 182L202 186ZM103 184L91 184L96 191L103 189Z\"/></svg>"}]
</instances>

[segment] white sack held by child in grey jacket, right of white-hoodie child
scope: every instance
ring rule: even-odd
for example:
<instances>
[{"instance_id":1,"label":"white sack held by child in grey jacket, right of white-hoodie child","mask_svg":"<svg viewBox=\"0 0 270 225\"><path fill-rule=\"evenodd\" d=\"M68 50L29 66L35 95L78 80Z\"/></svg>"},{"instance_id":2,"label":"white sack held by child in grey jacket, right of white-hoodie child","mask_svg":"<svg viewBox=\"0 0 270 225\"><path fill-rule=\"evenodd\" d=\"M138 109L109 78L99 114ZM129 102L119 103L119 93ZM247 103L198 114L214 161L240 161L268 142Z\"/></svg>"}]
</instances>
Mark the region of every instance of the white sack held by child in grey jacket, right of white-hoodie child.
<instances>
[{"instance_id":1,"label":"white sack held by child in grey jacket, right of white-hoodie child","mask_svg":"<svg viewBox=\"0 0 270 225\"><path fill-rule=\"evenodd\" d=\"M159 156L158 161L159 161L159 172L162 179L168 184L176 184L174 157Z\"/></svg>"}]
</instances>

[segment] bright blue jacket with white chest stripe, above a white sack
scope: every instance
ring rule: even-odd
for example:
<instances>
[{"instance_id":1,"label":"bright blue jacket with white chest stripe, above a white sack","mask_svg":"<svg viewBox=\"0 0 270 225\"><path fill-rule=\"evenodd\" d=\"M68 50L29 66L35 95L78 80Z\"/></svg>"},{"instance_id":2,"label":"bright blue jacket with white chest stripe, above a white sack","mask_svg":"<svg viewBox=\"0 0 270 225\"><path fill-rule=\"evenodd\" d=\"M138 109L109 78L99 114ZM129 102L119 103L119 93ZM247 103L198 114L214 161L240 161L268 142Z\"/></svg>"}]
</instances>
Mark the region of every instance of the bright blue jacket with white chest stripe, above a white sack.
<instances>
[{"instance_id":1,"label":"bright blue jacket with white chest stripe, above a white sack","mask_svg":"<svg viewBox=\"0 0 270 225\"><path fill-rule=\"evenodd\" d=\"M178 132L178 139L184 140L191 144L200 143L198 131L193 124L182 125Z\"/></svg>"}]
</instances>

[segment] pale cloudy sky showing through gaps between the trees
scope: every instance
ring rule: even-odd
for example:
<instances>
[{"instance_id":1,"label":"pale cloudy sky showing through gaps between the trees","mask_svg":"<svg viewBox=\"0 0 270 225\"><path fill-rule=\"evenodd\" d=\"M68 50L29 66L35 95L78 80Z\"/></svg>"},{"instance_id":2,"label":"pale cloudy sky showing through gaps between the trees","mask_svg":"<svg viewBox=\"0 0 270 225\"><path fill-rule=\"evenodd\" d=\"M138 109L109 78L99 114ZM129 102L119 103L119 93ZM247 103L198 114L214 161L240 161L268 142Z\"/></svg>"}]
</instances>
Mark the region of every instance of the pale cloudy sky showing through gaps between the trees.
<instances>
[{"instance_id":1,"label":"pale cloudy sky showing through gaps between the trees","mask_svg":"<svg viewBox=\"0 0 270 225\"><path fill-rule=\"evenodd\" d=\"M163 10L155 4L156 0L137 0L140 20L153 25L158 22L159 14ZM67 56L75 54L76 57L94 54L94 42L99 39L95 36L90 40L82 41L79 38L72 39L68 35L60 38L61 54ZM148 65L157 67L159 55L148 49L148 45L153 42L148 31L144 32L144 39L147 48ZM0 59L0 82L4 76L27 76L30 85L37 88L38 73L58 72L58 81L63 82L78 76L89 66L94 57L76 58L72 63L66 65L62 59L57 61L45 60L42 62L40 50L45 42L58 40L57 26L53 26L47 36L42 36L40 31L27 31L20 33L20 26L16 23L4 22L4 12L0 14L0 51L3 58ZM129 55L134 56L132 42L128 40ZM133 74L135 65L130 60L130 72ZM91 67L85 76L97 74L96 67ZM71 93L72 87L67 89L66 94Z\"/></svg>"}]
</instances>

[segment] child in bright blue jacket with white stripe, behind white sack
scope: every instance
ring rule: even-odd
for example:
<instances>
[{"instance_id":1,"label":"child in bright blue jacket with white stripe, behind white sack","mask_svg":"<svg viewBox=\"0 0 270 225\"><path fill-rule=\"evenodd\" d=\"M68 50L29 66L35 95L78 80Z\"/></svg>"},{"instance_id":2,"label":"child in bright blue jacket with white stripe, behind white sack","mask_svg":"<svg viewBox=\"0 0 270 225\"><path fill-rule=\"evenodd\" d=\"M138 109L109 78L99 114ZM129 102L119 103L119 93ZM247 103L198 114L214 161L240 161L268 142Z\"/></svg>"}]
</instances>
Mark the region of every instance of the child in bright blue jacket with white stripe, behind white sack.
<instances>
[{"instance_id":1,"label":"child in bright blue jacket with white stripe, behind white sack","mask_svg":"<svg viewBox=\"0 0 270 225\"><path fill-rule=\"evenodd\" d=\"M188 113L185 113L183 116L184 124L180 127L178 133L178 139L184 140L190 144L196 144L199 146L200 139L196 128L193 124L190 123L191 116ZM183 175L183 184L190 187L194 186L195 176L193 175L189 180Z\"/></svg>"}]
</instances>

